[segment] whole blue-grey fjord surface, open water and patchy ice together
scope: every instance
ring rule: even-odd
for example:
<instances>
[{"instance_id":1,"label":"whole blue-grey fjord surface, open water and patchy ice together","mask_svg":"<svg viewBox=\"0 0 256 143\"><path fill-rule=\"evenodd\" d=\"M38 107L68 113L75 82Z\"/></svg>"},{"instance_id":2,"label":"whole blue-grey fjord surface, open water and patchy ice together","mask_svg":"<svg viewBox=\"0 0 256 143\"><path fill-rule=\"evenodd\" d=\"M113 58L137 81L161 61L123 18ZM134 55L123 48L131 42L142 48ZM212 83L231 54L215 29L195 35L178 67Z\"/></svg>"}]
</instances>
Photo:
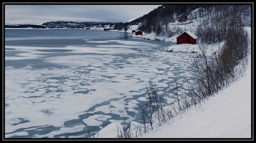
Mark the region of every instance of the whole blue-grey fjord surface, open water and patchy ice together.
<instances>
[{"instance_id":1,"label":"whole blue-grey fjord surface, open water and patchy ice together","mask_svg":"<svg viewBox=\"0 0 256 143\"><path fill-rule=\"evenodd\" d=\"M146 86L157 85L169 103L169 83L190 76L192 55L165 52L172 43L99 30L38 31L6 30L6 137L87 137L88 129L123 116L136 120Z\"/></svg>"}]
</instances>

